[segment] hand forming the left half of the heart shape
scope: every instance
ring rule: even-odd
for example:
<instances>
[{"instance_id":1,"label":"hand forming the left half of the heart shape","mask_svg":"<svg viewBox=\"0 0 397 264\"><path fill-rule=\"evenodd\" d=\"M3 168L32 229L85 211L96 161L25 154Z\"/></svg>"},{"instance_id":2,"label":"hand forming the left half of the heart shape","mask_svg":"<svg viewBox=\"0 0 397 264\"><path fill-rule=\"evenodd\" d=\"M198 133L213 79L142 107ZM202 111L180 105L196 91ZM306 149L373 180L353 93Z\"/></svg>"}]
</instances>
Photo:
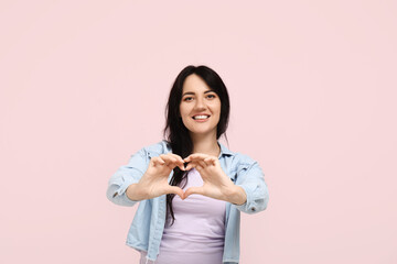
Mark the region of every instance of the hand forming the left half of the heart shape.
<instances>
[{"instance_id":1,"label":"hand forming the left half of the heart shape","mask_svg":"<svg viewBox=\"0 0 397 264\"><path fill-rule=\"evenodd\" d=\"M138 184L127 188L127 196L131 200L146 200L161 195L175 194L183 199L183 190L168 183L170 173L174 167L185 170L181 156L172 153L152 157L149 167Z\"/></svg>"}]
</instances>

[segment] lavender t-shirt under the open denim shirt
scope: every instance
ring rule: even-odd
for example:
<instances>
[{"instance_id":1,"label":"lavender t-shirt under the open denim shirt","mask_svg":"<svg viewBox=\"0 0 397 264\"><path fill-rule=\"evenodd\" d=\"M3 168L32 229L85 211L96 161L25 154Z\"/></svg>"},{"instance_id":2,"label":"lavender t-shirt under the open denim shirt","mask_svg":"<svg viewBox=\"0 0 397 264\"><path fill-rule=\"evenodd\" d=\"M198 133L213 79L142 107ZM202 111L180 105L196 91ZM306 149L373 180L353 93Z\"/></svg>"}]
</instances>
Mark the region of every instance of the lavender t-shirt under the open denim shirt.
<instances>
[{"instance_id":1,"label":"lavender t-shirt under the open denim shirt","mask_svg":"<svg viewBox=\"0 0 397 264\"><path fill-rule=\"evenodd\" d=\"M193 168L183 188L202 186L200 173ZM201 195L172 200L175 221L164 227L155 264L222 264L225 240L226 202ZM146 252L142 252L141 263Z\"/></svg>"}]
</instances>

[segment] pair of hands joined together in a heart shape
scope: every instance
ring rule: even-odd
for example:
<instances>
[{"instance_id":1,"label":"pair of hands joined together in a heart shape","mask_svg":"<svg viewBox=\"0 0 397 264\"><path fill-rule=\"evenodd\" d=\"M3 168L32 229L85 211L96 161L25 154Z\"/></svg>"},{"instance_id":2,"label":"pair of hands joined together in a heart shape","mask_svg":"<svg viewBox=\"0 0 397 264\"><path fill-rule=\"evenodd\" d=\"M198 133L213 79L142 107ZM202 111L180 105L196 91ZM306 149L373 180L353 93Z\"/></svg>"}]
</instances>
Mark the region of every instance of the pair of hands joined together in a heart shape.
<instances>
[{"instance_id":1,"label":"pair of hands joined together in a heart shape","mask_svg":"<svg viewBox=\"0 0 397 264\"><path fill-rule=\"evenodd\" d=\"M179 186L171 186L168 178L176 166L183 172L196 168L203 179L203 186L189 187L185 191ZM196 194L243 205L247 198L245 190L235 185L222 169L219 160L202 153L194 153L185 158L173 153L152 157L147 172L137 185L139 187L136 191L131 191L135 193L137 200L151 199L165 194L178 195L184 200L190 195Z\"/></svg>"}]
</instances>

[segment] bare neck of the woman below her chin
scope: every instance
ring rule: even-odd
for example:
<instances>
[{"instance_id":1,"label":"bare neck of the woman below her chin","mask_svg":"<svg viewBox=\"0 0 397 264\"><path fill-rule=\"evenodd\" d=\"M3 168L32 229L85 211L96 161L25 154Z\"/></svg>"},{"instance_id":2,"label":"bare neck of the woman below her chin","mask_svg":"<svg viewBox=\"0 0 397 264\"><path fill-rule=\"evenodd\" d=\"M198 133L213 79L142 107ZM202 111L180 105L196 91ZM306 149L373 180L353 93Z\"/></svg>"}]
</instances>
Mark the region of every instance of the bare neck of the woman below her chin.
<instances>
[{"instance_id":1,"label":"bare neck of the woman below her chin","mask_svg":"<svg viewBox=\"0 0 397 264\"><path fill-rule=\"evenodd\" d=\"M203 153L212 156L218 156L221 147L217 144L216 134L194 134L192 135L193 153Z\"/></svg>"}]
</instances>

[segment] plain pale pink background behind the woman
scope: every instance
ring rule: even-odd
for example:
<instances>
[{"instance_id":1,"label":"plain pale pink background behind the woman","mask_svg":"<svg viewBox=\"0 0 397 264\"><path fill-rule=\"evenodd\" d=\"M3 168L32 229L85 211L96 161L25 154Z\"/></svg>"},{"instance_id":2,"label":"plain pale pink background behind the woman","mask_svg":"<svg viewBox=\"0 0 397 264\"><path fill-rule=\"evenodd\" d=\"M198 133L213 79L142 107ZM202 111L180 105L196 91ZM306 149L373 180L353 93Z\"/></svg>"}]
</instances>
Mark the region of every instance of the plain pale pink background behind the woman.
<instances>
[{"instance_id":1,"label":"plain pale pink background behind the woman","mask_svg":"<svg viewBox=\"0 0 397 264\"><path fill-rule=\"evenodd\" d=\"M242 263L397 263L396 1L0 2L0 263L137 263L109 177L186 65L262 166Z\"/></svg>"}]
</instances>

